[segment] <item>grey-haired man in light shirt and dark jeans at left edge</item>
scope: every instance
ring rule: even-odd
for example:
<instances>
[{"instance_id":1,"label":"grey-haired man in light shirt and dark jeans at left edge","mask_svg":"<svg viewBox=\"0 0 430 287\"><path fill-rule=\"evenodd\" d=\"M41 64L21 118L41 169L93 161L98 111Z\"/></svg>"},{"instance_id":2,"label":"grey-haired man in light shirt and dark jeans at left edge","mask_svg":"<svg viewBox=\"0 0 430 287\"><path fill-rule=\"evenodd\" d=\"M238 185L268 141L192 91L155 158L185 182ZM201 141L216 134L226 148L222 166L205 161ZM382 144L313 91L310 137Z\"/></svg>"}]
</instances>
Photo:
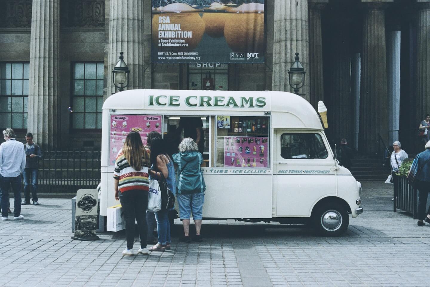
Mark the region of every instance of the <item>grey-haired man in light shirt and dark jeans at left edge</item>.
<instances>
[{"instance_id":1,"label":"grey-haired man in light shirt and dark jeans at left edge","mask_svg":"<svg viewBox=\"0 0 430 287\"><path fill-rule=\"evenodd\" d=\"M0 202L2 220L7 217L9 187L12 185L15 202L14 219L23 219L21 215L21 173L25 168L25 151L22 142L15 139L15 132L7 128L3 130L6 142L0 145Z\"/></svg>"}]
</instances>

